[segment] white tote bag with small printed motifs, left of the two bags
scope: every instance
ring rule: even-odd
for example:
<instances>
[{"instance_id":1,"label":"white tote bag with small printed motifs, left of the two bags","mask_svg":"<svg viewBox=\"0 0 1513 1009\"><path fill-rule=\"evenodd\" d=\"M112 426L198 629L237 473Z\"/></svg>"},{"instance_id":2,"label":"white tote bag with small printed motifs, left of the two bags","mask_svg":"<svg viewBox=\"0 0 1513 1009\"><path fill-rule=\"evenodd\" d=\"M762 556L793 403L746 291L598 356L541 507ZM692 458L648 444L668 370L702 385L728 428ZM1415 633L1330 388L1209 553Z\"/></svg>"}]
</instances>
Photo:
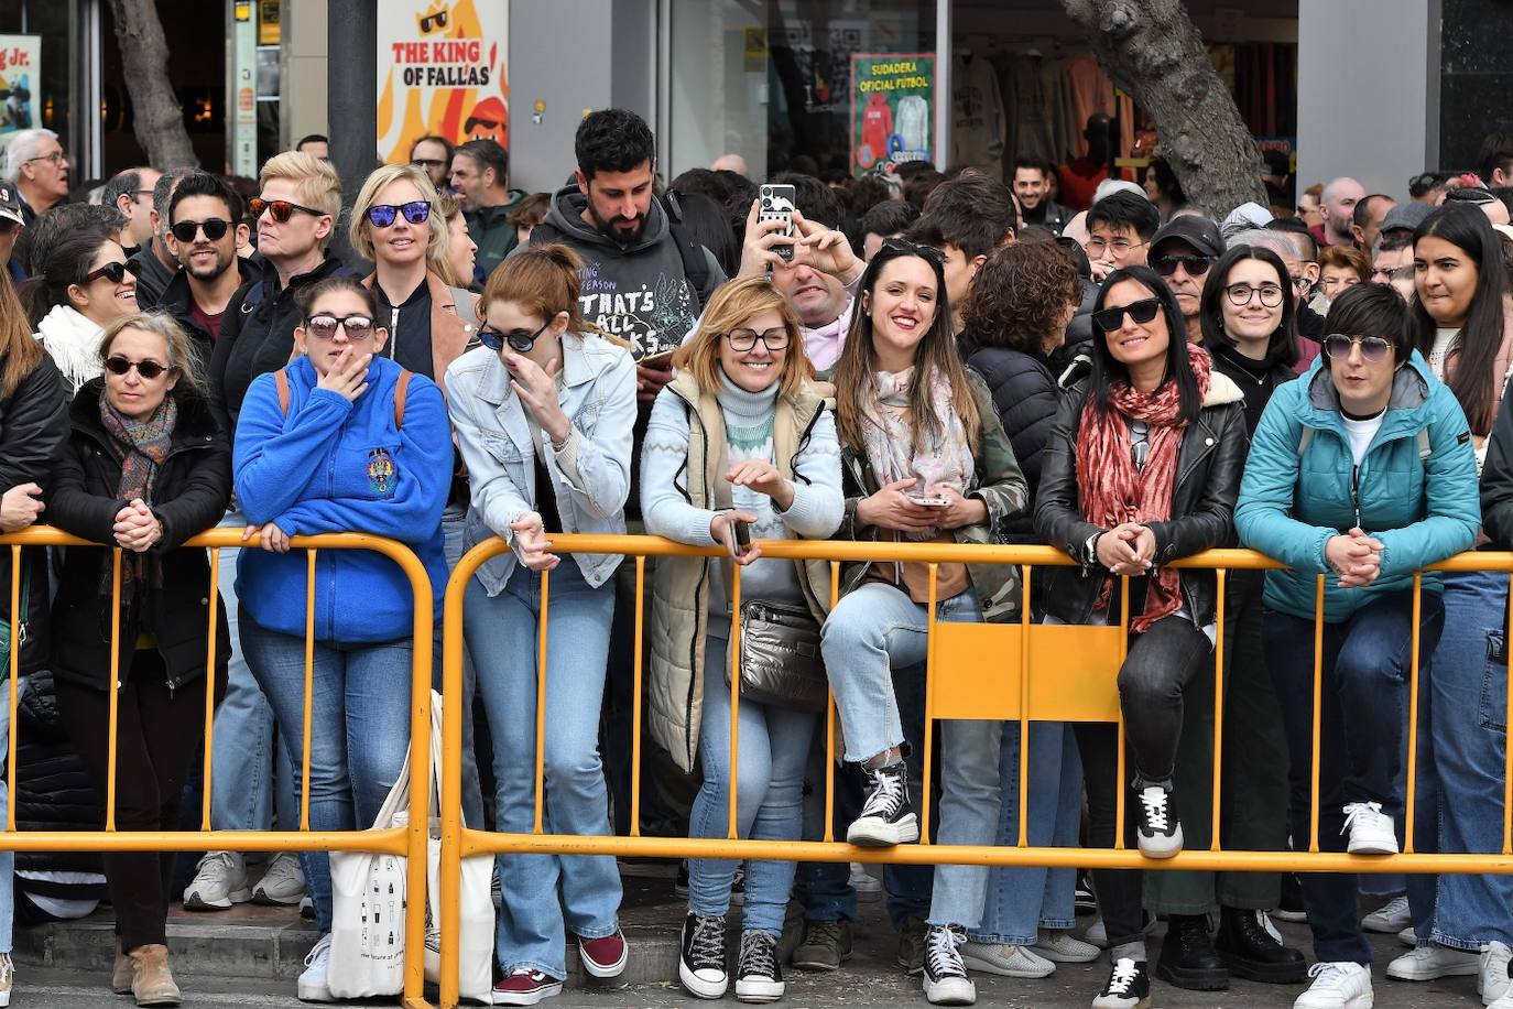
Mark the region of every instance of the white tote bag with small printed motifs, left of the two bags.
<instances>
[{"instance_id":1,"label":"white tote bag with small printed motifs, left of the two bags","mask_svg":"<svg viewBox=\"0 0 1513 1009\"><path fill-rule=\"evenodd\" d=\"M410 761L389 790L374 829L410 821ZM331 852L331 959L337 998L398 995L404 989L405 862L401 855Z\"/></svg>"}]
</instances>

